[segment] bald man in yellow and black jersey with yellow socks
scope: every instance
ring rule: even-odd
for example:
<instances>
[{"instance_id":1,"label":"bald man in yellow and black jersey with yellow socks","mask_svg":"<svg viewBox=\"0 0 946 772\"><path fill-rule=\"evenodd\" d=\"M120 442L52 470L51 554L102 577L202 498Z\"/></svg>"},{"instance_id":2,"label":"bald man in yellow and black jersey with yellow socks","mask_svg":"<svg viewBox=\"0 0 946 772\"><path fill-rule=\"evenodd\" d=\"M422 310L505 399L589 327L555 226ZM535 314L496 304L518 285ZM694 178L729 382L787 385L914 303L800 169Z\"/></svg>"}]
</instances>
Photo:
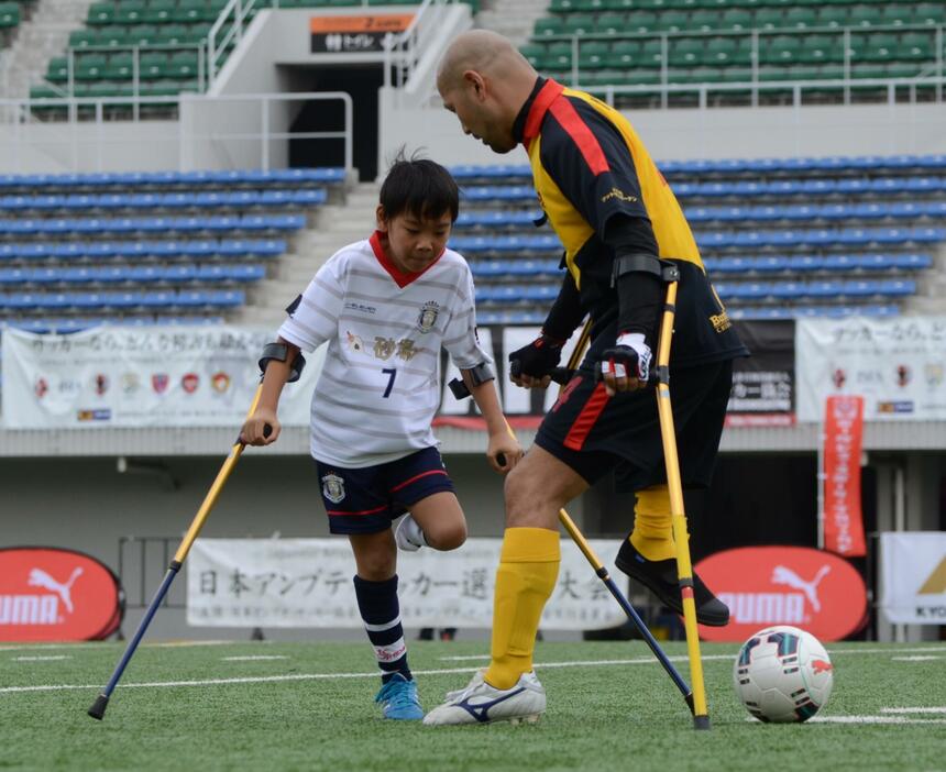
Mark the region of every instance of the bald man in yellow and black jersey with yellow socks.
<instances>
[{"instance_id":1,"label":"bald man in yellow and black jersey with yellow socks","mask_svg":"<svg viewBox=\"0 0 946 772\"><path fill-rule=\"evenodd\" d=\"M541 78L507 40L460 35L438 71L444 107L497 153L522 145L539 202L564 245L561 291L531 344L513 352L513 382L544 388L585 315L584 363L506 478L506 531L493 615L492 662L448 695L426 724L532 718L546 694L532 671L542 608L560 561L558 511L614 472L637 494L617 565L682 611L670 500L650 364L664 295L660 260L680 269L671 372L684 484L710 482L732 385L747 352L706 278L681 209L629 122L587 93ZM697 619L728 609L694 575Z\"/></svg>"}]
</instances>

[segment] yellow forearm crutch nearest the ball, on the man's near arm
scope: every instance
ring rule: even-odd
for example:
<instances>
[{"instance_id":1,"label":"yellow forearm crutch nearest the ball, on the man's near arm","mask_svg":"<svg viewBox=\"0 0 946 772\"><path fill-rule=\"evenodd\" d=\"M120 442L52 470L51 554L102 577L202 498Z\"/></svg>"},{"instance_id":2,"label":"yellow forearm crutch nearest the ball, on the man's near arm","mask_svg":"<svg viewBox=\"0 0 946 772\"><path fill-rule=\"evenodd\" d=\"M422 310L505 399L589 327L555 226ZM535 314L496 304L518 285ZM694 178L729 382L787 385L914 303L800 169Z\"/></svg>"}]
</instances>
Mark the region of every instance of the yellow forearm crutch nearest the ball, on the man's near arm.
<instances>
[{"instance_id":1,"label":"yellow forearm crutch nearest the ball, on the man's near arm","mask_svg":"<svg viewBox=\"0 0 946 772\"><path fill-rule=\"evenodd\" d=\"M673 410L670 404L670 339L673 335L673 317L676 311L676 284L679 276L679 273L674 273L672 280L667 285L667 299L663 305L663 319L660 324L660 339L657 345L657 410L660 416L663 460L667 464L670 517L673 528L673 544L676 551L676 575L680 582L680 595L683 598L683 626L686 630L686 653L690 658L690 681L693 683L693 728L708 729L710 715L706 709L703 662L700 659L696 603L693 598L693 566L690 563L690 534L686 532L683 485L680 479L680 461L676 455L676 433L673 428Z\"/></svg>"}]
</instances>

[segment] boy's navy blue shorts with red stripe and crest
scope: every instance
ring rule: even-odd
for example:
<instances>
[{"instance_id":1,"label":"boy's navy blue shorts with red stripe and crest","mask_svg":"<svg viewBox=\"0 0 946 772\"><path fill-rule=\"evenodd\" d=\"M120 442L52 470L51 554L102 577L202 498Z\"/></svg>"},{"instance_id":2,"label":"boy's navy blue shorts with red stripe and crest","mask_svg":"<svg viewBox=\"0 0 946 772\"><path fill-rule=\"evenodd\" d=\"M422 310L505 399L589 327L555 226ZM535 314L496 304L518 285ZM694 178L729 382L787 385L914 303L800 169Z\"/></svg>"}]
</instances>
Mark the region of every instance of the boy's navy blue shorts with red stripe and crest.
<instances>
[{"instance_id":1,"label":"boy's navy blue shorts with red stripe and crest","mask_svg":"<svg viewBox=\"0 0 946 772\"><path fill-rule=\"evenodd\" d=\"M358 470L318 459L316 465L332 533L384 531L411 504L441 490L453 492L453 481L436 448Z\"/></svg>"}]
</instances>

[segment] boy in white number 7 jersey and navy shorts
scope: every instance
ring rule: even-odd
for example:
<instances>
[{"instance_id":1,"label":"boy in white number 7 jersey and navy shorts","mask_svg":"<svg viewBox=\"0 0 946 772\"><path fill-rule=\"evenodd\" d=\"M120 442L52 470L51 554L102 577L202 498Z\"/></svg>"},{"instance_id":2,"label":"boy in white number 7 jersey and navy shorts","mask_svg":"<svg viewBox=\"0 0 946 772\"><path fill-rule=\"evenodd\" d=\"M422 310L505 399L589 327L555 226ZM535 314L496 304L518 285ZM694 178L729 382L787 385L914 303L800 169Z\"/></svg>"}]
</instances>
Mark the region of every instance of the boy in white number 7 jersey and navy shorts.
<instances>
[{"instance_id":1,"label":"boy in white number 7 jersey and navy shorts","mask_svg":"<svg viewBox=\"0 0 946 772\"><path fill-rule=\"evenodd\" d=\"M260 405L241 433L252 445L278 439L279 395L299 350L328 341L312 396L311 453L330 530L346 534L354 552L359 610L382 671L375 699L394 719L424 717L400 624L397 545L454 550L466 539L431 431L441 346L486 420L490 464L505 473L522 455L476 339L470 266L447 249L458 212L457 184L442 166L392 166L377 231L332 255L289 306L277 343L264 351ZM405 511L393 534L392 521Z\"/></svg>"}]
</instances>

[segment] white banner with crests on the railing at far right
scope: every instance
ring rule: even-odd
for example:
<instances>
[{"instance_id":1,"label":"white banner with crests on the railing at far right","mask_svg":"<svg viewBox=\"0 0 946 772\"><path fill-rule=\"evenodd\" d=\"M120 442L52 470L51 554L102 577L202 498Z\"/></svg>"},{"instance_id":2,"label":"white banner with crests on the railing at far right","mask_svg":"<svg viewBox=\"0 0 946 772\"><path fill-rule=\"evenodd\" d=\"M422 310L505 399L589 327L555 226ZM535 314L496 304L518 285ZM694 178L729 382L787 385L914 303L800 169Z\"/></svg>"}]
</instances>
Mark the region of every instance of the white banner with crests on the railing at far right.
<instances>
[{"instance_id":1,"label":"white banner with crests on the railing at far right","mask_svg":"<svg viewBox=\"0 0 946 772\"><path fill-rule=\"evenodd\" d=\"M864 396L864 420L946 420L946 317L799 319L798 420Z\"/></svg>"}]
</instances>

